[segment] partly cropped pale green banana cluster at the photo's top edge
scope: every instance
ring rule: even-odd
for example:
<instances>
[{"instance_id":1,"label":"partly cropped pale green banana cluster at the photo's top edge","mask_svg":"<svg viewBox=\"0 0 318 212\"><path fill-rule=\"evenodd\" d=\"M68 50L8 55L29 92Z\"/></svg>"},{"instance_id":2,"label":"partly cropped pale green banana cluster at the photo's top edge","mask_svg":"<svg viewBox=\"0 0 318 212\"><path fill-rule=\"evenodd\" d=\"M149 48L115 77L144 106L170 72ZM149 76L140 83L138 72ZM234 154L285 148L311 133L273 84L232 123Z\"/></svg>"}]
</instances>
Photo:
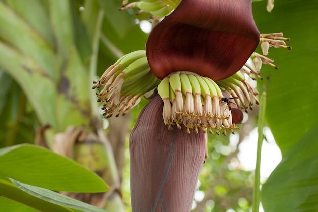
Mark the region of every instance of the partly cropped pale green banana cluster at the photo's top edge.
<instances>
[{"instance_id":1,"label":"partly cropped pale green banana cluster at the photo's top edge","mask_svg":"<svg viewBox=\"0 0 318 212\"><path fill-rule=\"evenodd\" d=\"M136 14L151 13L153 16L160 18L167 16L175 9L180 3L180 0L142 0L126 5L127 2L128 1L123 1L119 10L138 7L141 10L137 11Z\"/></svg>"}]
</instances>

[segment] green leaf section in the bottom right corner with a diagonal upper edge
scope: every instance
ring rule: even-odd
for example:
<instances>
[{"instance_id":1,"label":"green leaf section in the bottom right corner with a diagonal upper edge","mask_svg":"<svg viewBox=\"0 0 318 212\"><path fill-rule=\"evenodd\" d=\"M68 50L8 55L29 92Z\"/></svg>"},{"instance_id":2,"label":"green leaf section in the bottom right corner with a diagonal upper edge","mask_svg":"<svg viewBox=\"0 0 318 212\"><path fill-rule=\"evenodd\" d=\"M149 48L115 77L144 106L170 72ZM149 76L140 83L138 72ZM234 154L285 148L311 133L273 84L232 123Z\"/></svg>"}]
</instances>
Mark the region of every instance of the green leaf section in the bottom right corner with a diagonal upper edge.
<instances>
[{"instance_id":1,"label":"green leaf section in the bottom right corner with a diagonal upper edge","mask_svg":"<svg viewBox=\"0 0 318 212\"><path fill-rule=\"evenodd\" d=\"M265 211L318 211L318 126L285 154L262 187Z\"/></svg>"}]
</instances>

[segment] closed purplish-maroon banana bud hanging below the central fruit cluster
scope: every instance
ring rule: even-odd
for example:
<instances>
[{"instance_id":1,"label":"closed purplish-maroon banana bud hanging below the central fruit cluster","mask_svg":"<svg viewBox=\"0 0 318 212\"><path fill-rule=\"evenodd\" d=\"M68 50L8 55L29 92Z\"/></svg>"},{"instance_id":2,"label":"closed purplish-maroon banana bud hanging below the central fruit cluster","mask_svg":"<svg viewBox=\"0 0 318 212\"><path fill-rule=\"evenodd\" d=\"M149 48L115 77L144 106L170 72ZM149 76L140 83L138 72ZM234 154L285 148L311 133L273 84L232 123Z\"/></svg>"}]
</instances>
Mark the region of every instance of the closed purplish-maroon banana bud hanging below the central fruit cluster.
<instances>
[{"instance_id":1,"label":"closed purplish-maroon banana bud hanging below the central fruit cluster","mask_svg":"<svg viewBox=\"0 0 318 212\"><path fill-rule=\"evenodd\" d=\"M168 130L155 93L130 136L133 212L190 211L207 150L207 135Z\"/></svg>"}]
</instances>

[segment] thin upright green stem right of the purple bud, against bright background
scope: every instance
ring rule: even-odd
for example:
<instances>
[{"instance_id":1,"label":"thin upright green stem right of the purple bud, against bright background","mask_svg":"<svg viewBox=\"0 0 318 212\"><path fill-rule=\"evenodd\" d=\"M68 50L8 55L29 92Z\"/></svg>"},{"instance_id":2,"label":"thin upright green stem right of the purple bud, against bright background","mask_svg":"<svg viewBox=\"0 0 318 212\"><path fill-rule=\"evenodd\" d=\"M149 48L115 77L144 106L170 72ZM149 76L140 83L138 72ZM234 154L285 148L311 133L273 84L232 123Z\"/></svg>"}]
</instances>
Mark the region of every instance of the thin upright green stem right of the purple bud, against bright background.
<instances>
[{"instance_id":1,"label":"thin upright green stem right of the purple bud, against bright background","mask_svg":"<svg viewBox=\"0 0 318 212\"><path fill-rule=\"evenodd\" d=\"M257 156L256 156L256 167L254 176L254 193L253 193L253 212L258 212L260 208L260 178L261 178L261 153L262 153L262 143L264 139L263 129L265 126L265 109L266 109L266 97L267 93L264 90L260 100L260 111L258 119L258 141L257 141Z\"/></svg>"}]
</instances>

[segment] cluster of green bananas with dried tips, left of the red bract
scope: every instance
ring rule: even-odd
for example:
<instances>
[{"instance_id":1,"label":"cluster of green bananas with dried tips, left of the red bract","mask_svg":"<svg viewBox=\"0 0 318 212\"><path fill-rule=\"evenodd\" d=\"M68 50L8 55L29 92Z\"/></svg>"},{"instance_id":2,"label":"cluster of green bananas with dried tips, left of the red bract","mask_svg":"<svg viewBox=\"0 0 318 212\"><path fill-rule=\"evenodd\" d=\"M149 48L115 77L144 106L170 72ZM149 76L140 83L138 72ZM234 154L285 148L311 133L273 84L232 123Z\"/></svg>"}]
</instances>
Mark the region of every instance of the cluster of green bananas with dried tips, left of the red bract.
<instances>
[{"instance_id":1,"label":"cluster of green bananas with dried tips, left of the red bract","mask_svg":"<svg viewBox=\"0 0 318 212\"><path fill-rule=\"evenodd\" d=\"M148 65L146 52L134 51L119 58L100 77L92 88L103 89L96 93L106 118L113 114L125 115L137 105L141 96L154 89L160 79L156 78Z\"/></svg>"}]
</instances>

